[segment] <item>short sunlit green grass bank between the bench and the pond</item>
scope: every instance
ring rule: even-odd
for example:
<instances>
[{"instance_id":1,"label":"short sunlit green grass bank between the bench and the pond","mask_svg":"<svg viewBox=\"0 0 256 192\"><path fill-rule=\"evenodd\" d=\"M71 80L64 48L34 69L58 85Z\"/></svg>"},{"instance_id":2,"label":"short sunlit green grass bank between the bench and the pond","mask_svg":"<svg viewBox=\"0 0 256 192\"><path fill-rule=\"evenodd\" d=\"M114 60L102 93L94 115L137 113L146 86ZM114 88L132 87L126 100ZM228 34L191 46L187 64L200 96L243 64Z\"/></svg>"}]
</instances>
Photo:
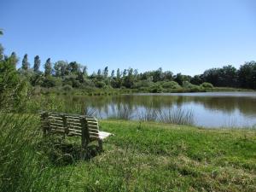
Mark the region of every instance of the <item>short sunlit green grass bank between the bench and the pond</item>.
<instances>
[{"instance_id":1,"label":"short sunlit green grass bank between the bench and the pond","mask_svg":"<svg viewBox=\"0 0 256 192\"><path fill-rule=\"evenodd\" d=\"M29 120L34 123L25 123L24 127L38 130L38 119ZM67 155L66 149L58 149L55 160L61 163L56 164L53 153L42 149L41 137L30 137L36 140L32 146L41 146L32 159L36 162L39 156L40 165L44 162L46 168L40 173L51 181L55 179L51 183L55 191L256 190L255 130L207 130L124 120L102 120L100 125L114 136L104 143L102 154L91 154L85 161ZM79 148L80 139L71 137L65 143ZM35 170L41 166L34 166L33 172L37 173ZM20 170L13 172L20 174ZM56 178L60 174L62 179Z\"/></svg>"}]
</instances>

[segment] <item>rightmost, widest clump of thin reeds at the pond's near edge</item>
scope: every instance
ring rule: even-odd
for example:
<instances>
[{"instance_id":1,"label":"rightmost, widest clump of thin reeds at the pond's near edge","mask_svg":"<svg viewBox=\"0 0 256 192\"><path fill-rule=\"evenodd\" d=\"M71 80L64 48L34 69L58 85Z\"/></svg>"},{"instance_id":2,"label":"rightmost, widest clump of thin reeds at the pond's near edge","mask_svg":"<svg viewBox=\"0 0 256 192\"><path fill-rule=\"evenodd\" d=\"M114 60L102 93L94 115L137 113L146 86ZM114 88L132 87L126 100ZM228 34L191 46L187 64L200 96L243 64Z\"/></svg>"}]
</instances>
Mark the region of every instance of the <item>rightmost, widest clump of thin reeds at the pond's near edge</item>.
<instances>
[{"instance_id":1,"label":"rightmost, widest clump of thin reeds at the pond's near edge","mask_svg":"<svg viewBox=\"0 0 256 192\"><path fill-rule=\"evenodd\" d=\"M159 110L158 119L163 123L177 125L193 125L195 123L194 113L192 110L183 108L168 108Z\"/></svg>"}]
</instances>

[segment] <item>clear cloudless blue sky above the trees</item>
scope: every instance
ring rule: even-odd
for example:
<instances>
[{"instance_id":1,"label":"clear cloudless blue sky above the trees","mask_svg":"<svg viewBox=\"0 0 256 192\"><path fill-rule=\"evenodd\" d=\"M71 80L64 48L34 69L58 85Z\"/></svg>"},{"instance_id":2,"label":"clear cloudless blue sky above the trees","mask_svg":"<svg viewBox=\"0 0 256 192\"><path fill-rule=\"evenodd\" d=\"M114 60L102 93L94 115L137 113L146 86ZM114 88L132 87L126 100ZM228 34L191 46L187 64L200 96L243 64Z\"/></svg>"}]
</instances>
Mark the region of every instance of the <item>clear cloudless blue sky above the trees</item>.
<instances>
[{"instance_id":1,"label":"clear cloudless blue sky above the trees","mask_svg":"<svg viewBox=\"0 0 256 192\"><path fill-rule=\"evenodd\" d=\"M195 75L256 60L254 0L1 0L0 43L29 61Z\"/></svg>"}]
</instances>

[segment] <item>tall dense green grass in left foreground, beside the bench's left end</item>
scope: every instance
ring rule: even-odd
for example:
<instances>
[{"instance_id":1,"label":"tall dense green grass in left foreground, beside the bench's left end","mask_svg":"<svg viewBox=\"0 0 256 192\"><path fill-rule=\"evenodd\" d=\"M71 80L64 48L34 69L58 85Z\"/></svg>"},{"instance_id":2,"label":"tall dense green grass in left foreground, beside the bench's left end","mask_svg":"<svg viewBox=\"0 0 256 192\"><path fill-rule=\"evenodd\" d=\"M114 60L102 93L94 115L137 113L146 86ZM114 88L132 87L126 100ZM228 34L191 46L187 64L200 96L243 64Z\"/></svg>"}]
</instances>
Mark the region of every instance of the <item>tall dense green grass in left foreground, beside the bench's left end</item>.
<instances>
[{"instance_id":1,"label":"tall dense green grass in left foreground, beside the bench's left end","mask_svg":"<svg viewBox=\"0 0 256 192\"><path fill-rule=\"evenodd\" d=\"M0 191L61 191L66 174L41 148L34 116L0 113ZM38 129L37 129L38 128Z\"/></svg>"}]
</instances>

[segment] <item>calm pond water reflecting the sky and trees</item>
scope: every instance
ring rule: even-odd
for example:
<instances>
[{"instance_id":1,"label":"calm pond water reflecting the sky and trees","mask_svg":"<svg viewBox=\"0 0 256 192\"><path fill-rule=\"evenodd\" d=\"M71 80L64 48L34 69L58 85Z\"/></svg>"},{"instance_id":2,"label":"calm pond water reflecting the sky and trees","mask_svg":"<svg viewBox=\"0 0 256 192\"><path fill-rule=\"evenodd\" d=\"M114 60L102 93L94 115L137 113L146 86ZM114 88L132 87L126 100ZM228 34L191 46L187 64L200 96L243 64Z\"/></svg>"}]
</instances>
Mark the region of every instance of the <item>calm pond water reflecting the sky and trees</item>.
<instances>
[{"instance_id":1,"label":"calm pond water reflecting the sky and trees","mask_svg":"<svg viewBox=\"0 0 256 192\"><path fill-rule=\"evenodd\" d=\"M103 119L123 106L132 111L131 119L138 119L139 113L148 108L160 111L179 108L192 111L195 125L199 126L256 126L256 92L135 94L79 97L75 100L95 108L96 116Z\"/></svg>"}]
</instances>

